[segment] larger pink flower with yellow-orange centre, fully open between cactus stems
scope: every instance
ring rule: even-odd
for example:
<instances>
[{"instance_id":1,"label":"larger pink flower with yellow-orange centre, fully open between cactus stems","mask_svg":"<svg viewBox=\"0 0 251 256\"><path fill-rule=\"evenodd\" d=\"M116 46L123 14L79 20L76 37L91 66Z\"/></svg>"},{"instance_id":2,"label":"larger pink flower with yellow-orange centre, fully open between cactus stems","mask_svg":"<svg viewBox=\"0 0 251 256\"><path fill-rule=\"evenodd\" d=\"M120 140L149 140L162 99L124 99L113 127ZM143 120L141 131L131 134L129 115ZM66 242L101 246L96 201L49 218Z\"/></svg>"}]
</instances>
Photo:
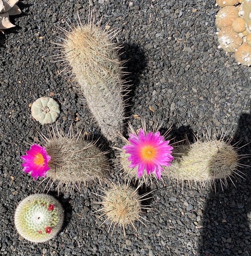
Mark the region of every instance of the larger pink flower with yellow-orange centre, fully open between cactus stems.
<instances>
[{"instance_id":1,"label":"larger pink flower with yellow-orange centre, fully open between cactus stems","mask_svg":"<svg viewBox=\"0 0 251 256\"><path fill-rule=\"evenodd\" d=\"M170 166L174 159L171 155L173 147L169 145L169 140L165 141L160 132L145 134L142 128L139 130L138 136L132 133L129 136L130 144L122 147L126 153L130 154L128 157L128 161L131 161L129 167L138 166L138 178L143 175L145 170L147 175L154 173L160 179L163 171L161 166Z\"/></svg>"}]
</instances>

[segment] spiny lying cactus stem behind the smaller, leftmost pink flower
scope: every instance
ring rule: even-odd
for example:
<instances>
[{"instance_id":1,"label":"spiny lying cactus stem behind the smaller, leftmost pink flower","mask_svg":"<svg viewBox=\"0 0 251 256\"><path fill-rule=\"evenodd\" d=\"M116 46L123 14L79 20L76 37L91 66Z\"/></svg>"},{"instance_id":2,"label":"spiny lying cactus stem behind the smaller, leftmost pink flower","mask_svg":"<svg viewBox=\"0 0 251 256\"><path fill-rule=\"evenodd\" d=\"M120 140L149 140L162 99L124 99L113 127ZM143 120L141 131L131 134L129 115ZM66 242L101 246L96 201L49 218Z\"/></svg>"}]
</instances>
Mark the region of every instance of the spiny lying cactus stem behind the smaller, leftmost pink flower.
<instances>
[{"instance_id":1,"label":"spiny lying cactus stem behind the smaller, leftmost pink flower","mask_svg":"<svg viewBox=\"0 0 251 256\"><path fill-rule=\"evenodd\" d=\"M105 156L107 152L102 152L96 146L96 141L90 142L88 138L85 140L85 134L82 134L81 131L74 134L72 125L68 134L64 134L58 129L56 133L53 127L50 134L50 138L41 134L45 140L46 151L51 157L48 162L50 169L42 181L48 180L46 187L52 180L52 184L58 183L58 192L62 188L68 194L74 188L80 190L81 183L84 187L90 181L98 181L101 184L101 180L108 170Z\"/></svg>"}]
</instances>

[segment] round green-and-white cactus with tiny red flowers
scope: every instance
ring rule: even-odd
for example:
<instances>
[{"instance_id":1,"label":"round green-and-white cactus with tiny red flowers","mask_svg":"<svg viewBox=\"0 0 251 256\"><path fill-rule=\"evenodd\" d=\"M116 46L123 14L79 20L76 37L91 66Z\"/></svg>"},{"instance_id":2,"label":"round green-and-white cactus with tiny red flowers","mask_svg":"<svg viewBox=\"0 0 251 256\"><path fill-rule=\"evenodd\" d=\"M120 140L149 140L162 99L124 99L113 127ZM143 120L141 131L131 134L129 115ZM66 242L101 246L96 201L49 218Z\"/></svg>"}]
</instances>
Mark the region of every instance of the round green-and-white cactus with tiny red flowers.
<instances>
[{"instance_id":1,"label":"round green-and-white cactus with tiny red flowers","mask_svg":"<svg viewBox=\"0 0 251 256\"><path fill-rule=\"evenodd\" d=\"M34 194L22 200L15 211L15 227L26 240L42 243L60 231L64 220L63 208L54 197Z\"/></svg>"}]
</instances>

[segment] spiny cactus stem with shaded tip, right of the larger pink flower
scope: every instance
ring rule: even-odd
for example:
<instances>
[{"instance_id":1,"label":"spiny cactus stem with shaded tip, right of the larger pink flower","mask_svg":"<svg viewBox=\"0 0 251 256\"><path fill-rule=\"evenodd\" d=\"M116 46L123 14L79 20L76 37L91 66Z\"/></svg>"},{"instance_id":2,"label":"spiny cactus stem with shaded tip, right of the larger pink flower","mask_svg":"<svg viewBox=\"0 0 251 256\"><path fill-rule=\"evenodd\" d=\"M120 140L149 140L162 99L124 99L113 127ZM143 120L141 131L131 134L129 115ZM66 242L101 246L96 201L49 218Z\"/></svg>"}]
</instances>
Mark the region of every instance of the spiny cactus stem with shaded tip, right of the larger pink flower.
<instances>
[{"instance_id":1,"label":"spiny cactus stem with shaded tip, right of the larger pink flower","mask_svg":"<svg viewBox=\"0 0 251 256\"><path fill-rule=\"evenodd\" d=\"M210 138L204 136L204 141L196 138L196 141L176 147L176 158L170 167L164 167L163 176L169 179L175 179L177 182L187 180L191 185L200 183L210 183L211 188L216 187L216 181L219 180L221 187L228 186L228 179L239 175L238 166L240 156L237 149L230 145L231 139L224 141L222 136L216 139L214 135Z\"/></svg>"}]
</instances>

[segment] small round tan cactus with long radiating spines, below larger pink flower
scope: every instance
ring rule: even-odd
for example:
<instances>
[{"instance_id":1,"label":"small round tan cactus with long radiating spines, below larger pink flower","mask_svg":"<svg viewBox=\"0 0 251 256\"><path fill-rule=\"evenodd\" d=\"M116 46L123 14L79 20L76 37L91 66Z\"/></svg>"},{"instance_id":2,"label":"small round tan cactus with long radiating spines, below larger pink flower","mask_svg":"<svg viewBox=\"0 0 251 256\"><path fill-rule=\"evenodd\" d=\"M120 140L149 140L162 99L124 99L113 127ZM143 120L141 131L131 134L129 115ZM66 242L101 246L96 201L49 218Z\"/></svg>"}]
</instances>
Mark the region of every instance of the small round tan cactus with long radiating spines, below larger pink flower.
<instances>
[{"instance_id":1,"label":"small round tan cactus with long radiating spines, below larger pink flower","mask_svg":"<svg viewBox=\"0 0 251 256\"><path fill-rule=\"evenodd\" d=\"M139 221L144 226L144 222L146 221L142 216L142 209L152 209L149 208L151 205L141 205L141 201L147 200L146 198L149 193L146 193L142 196L138 195L138 189L141 185L139 185L136 189L131 188L129 186L129 180L126 184L114 184L112 182L111 188L108 190L101 190L104 193L104 196L95 194L102 199L102 202L94 202L97 204L101 204L103 208L95 211L95 212L103 212L98 218L103 215L106 215L106 219L102 222L100 227L106 222L110 221L109 230L112 230L112 234L114 228L119 226L123 228L124 236L126 237L125 227L127 225L131 225L134 230L138 233L136 227L134 226L134 222ZM151 197L150 197L151 198ZM94 213L95 213L94 212ZM113 228L112 228L113 226ZM111 229L112 228L112 229ZM111 234L111 236L112 236Z\"/></svg>"}]
</instances>

